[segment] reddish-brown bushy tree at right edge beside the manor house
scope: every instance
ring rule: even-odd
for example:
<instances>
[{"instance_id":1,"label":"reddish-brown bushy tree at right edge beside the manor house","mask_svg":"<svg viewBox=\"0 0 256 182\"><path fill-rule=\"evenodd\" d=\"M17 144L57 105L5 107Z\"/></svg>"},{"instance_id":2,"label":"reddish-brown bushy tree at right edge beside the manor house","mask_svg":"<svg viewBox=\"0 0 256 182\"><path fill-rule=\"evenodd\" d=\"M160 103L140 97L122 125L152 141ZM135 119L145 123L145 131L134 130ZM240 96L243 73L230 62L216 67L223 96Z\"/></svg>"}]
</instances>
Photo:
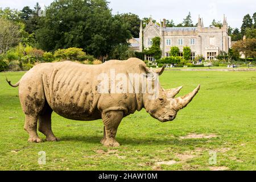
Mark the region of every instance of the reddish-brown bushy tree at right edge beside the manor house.
<instances>
[{"instance_id":1,"label":"reddish-brown bushy tree at right edge beside the manor house","mask_svg":"<svg viewBox=\"0 0 256 182\"><path fill-rule=\"evenodd\" d=\"M246 40L238 40L232 48L234 51L242 52L245 55L245 59L247 57L256 57L256 39L246 39Z\"/></svg>"}]
</instances>

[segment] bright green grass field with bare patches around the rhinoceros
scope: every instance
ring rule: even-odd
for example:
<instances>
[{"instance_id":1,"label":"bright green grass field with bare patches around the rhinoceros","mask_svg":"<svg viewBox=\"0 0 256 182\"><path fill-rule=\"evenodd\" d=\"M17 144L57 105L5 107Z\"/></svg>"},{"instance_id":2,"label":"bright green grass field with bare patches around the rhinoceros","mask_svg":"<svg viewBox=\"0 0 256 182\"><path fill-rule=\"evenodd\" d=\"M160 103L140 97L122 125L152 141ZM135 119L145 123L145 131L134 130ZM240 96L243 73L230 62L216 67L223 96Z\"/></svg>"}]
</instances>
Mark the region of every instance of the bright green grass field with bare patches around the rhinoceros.
<instances>
[{"instance_id":1,"label":"bright green grass field with bare patches around the rhinoceros","mask_svg":"<svg viewBox=\"0 0 256 182\"><path fill-rule=\"evenodd\" d=\"M60 142L28 143L18 88L5 82L5 75L14 83L23 74L0 73L1 170L256 170L256 72L164 72L163 88L183 85L181 95L200 83L199 93L173 122L145 110L124 118L117 148L100 144L101 120L57 114L52 127ZM38 164L39 151L46 152L45 165Z\"/></svg>"}]
</instances>

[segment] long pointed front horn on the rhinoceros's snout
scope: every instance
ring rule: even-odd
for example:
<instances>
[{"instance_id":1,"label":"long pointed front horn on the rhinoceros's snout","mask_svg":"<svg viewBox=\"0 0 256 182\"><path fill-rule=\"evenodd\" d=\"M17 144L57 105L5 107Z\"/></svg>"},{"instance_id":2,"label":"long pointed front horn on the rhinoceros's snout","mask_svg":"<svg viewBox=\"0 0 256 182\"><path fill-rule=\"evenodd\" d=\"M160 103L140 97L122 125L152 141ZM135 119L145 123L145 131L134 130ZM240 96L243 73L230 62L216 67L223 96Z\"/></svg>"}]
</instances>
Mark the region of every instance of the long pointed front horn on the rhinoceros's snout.
<instances>
[{"instance_id":1,"label":"long pointed front horn on the rhinoceros's snout","mask_svg":"<svg viewBox=\"0 0 256 182\"><path fill-rule=\"evenodd\" d=\"M187 106L189 102L192 101L193 97L196 96L199 89L200 89L200 84L195 88L195 90L193 90L193 92L185 96L175 98L176 110L183 109L185 106Z\"/></svg>"}]
</instances>

